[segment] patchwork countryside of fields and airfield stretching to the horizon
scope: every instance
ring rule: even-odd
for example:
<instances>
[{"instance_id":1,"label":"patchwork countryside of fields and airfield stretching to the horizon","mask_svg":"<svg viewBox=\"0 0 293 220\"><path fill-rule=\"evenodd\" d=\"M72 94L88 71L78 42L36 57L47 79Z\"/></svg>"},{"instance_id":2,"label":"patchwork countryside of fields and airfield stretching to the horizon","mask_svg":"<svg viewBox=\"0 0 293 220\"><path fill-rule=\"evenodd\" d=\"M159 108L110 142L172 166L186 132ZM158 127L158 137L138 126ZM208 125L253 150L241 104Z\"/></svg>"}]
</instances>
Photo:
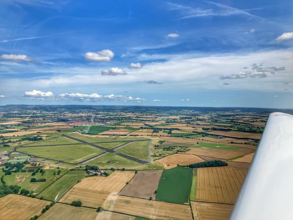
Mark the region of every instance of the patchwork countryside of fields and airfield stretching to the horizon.
<instances>
[{"instance_id":1,"label":"patchwork countryside of fields and airfield stretching to the horizon","mask_svg":"<svg viewBox=\"0 0 293 220\"><path fill-rule=\"evenodd\" d=\"M0 151L9 157L1 162L30 156L37 165L23 169L45 170L34 177L46 182L30 182L30 172L1 171L7 185L34 195L0 198L2 219L228 219L268 117L260 110L170 114L80 108L35 110L27 120L29 110L17 111L0 112ZM68 121L58 121L56 114ZM93 114L96 122L89 123ZM213 160L228 166L187 167ZM108 176L89 176L86 165ZM41 213L52 201L56 204ZM81 207L71 206L73 201ZM99 207L102 212L96 212ZM19 212L25 215L16 218Z\"/></svg>"}]
</instances>

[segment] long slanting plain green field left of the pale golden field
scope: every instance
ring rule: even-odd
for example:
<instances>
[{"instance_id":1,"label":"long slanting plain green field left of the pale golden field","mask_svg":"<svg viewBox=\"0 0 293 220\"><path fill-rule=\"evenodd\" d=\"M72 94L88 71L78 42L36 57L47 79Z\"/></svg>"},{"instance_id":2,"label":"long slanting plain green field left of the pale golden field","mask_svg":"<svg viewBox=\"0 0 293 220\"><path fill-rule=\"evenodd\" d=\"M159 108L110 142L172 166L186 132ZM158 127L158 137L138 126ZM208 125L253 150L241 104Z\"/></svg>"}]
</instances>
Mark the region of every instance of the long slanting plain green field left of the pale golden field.
<instances>
[{"instance_id":1,"label":"long slanting plain green field left of the pale golden field","mask_svg":"<svg viewBox=\"0 0 293 220\"><path fill-rule=\"evenodd\" d=\"M60 196L66 192L67 189L69 189L78 180L81 180L82 178L84 178L86 175L87 175L86 172L82 170L68 171L61 178L56 180L56 182L54 182L42 193L40 193L37 196L37 198L40 198L41 196L43 196L44 199L47 199L47 200L52 200L52 201L55 201L56 199L58 200Z\"/></svg>"}]
</instances>

